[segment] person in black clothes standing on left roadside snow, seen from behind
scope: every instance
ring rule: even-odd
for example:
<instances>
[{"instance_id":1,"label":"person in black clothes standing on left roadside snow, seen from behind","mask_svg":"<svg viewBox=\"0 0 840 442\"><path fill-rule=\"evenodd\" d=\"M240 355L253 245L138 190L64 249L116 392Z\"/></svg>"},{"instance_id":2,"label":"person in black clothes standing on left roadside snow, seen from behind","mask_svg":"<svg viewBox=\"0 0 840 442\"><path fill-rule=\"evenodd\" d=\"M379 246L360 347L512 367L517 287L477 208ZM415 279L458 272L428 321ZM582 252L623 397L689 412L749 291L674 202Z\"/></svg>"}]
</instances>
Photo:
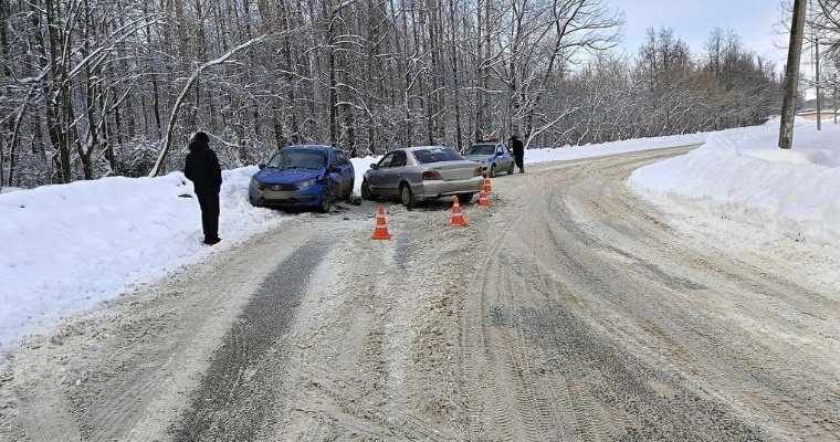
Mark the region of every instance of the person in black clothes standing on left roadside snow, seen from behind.
<instances>
[{"instance_id":1,"label":"person in black clothes standing on left roadside snow, seen from behind","mask_svg":"<svg viewBox=\"0 0 840 442\"><path fill-rule=\"evenodd\" d=\"M222 186L222 170L219 167L219 158L210 148L210 137L203 131L192 137L189 150L183 175L196 188L196 197L201 208L204 244L213 245L221 241L219 238L219 191Z\"/></svg>"}]
</instances>

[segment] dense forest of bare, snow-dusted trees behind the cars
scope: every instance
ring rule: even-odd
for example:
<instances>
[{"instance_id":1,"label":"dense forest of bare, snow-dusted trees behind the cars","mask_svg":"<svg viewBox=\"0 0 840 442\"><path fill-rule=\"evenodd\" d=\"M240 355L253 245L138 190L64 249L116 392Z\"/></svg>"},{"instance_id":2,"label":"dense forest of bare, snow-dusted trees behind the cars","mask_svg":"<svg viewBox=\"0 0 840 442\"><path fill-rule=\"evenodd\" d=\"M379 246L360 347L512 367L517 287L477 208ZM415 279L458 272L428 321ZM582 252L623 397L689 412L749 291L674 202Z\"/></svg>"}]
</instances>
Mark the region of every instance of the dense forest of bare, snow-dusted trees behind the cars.
<instances>
[{"instance_id":1,"label":"dense forest of bare, snow-dusted trees behind the cars","mask_svg":"<svg viewBox=\"0 0 840 442\"><path fill-rule=\"evenodd\" d=\"M816 3L828 69L840 11ZM607 0L3 0L0 23L0 188L178 170L197 130L233 168L302 143L717 130L781 99L780 66L731 30L689 48L651 28L620 52Z\"/></svg>"}]
</instances>

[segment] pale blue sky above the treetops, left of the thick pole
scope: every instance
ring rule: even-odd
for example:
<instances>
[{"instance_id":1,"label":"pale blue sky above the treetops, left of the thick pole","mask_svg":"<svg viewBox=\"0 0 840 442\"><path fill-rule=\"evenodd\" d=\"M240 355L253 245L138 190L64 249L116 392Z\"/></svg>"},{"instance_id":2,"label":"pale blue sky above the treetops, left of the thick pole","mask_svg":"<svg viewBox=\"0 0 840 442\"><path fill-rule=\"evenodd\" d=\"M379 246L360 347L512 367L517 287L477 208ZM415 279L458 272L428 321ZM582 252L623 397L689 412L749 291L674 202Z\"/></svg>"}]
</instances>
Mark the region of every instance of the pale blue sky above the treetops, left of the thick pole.
<instances>
[{"instance_id":1,"label":"pale blue sky above the treetops, left of the thick pole","mask_svg":"<svg viewBox=\"0 0 840 442\"><path fill-rule=\"evenodd\" d=\"M612 0L624 11L624 49L636 54L645 30L671 28L685 41L693 54L701 53L713 28L731 29L741 35L746 48L776 62L781 70L787 57L788 35L778 35L779 0Z\"/></svg>"}]
</instances>

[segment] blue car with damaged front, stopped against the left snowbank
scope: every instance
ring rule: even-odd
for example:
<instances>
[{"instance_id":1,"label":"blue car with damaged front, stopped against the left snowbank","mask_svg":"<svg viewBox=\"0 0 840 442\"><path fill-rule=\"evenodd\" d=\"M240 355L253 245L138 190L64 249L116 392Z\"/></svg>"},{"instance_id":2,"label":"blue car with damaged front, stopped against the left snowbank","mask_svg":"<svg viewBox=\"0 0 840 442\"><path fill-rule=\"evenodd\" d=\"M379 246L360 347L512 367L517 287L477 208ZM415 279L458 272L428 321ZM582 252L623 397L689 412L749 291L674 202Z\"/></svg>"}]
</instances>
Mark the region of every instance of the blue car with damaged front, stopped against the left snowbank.
<instances>
[{"instance_id":1,"label":"blue car with damaged front, stopped against the left snowbank","mask_svg":"<svg viewBox=\"0 0 840 442\"><path fill-rule=\"evenodd\" d=\"M251 178L253 206L329 211L335 199L349 199L353 164L344 151L329 146L293 145L277 150Z\"/></svg>"}]
</instances>

